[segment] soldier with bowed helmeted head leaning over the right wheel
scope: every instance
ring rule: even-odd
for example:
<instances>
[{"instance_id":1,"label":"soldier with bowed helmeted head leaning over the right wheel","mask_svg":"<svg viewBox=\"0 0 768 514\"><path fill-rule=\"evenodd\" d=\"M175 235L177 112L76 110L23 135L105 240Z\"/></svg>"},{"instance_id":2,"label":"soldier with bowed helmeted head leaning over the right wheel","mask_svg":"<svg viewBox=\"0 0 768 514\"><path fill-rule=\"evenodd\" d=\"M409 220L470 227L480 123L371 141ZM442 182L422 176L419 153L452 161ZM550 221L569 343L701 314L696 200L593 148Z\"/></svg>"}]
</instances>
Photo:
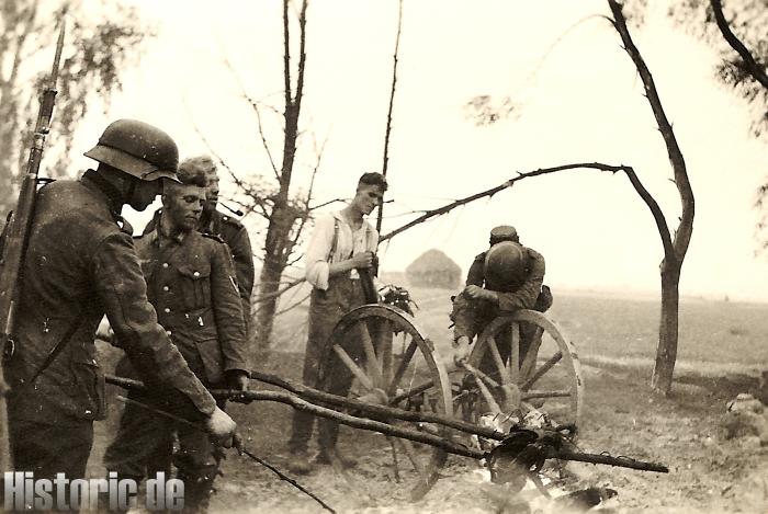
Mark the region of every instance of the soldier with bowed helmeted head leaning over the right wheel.
<instances>
[{"instance_id":1,"label":"soldier with bowed helmeted head leaning over the right wheel","mask_svg":"<svg viewBox=\"0 0 768 514\"><path fill-rule=\"evenodd\" d=\"M475 256L466 286L453 300L456 363L466 359L472 340L500 313L518 309L544 312L552 305L550 289L543 286L544 258L520 244L515 227L494 228L489 243L487 251Z\"/></svg>"}]
</instances>

